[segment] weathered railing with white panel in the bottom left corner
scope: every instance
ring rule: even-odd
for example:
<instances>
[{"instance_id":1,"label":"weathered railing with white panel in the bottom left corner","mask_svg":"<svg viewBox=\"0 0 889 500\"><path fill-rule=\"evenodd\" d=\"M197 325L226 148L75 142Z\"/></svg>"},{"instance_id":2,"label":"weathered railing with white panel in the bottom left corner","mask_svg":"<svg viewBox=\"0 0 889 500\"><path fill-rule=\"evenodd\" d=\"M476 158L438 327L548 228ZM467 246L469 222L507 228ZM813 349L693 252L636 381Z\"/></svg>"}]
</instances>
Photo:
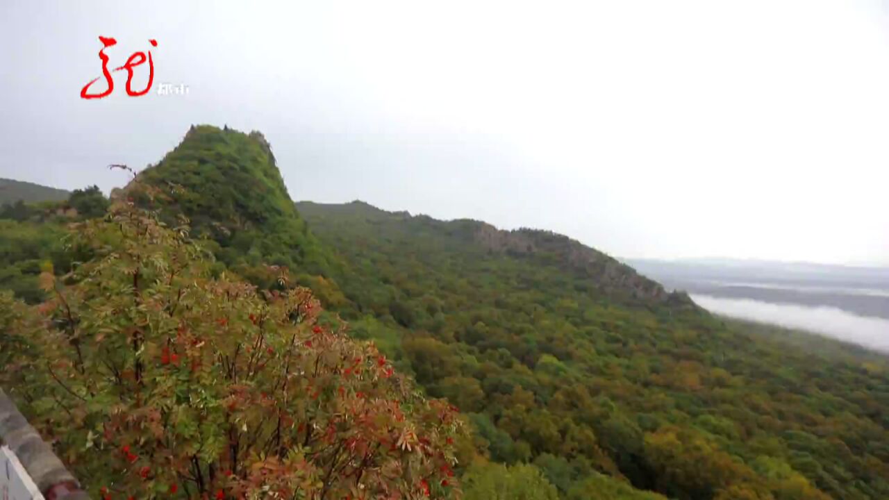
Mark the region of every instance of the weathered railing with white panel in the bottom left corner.
<instances>
[{"instance_id":1,"label":"weathered railing with white panel in the bottom left corner","mask_svg":"<svg viewBox=\"0 0 889 500\"><path fill-rule=\"evenodd\" d=\"M68 472L0 389L0 495L10 500L89 500ZM36 489L36 491L33 491ZM39 493L37 493L39 492Z\"/></svg>"}]
</instances>

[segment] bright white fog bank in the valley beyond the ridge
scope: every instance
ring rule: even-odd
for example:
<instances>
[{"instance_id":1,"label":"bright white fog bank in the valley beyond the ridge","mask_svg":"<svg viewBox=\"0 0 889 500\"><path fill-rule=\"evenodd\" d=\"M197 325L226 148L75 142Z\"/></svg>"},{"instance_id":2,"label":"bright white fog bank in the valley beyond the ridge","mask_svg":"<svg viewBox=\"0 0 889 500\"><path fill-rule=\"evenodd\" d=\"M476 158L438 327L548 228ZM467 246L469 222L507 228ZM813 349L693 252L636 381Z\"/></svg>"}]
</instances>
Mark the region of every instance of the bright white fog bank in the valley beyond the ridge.
<instances>
[{"instance_id":1,"label":"bright white fog bank in the valley beyond the ridge","mask_svg":"<svg viewBox=\"0 0 889 500\"><path fill-rule=\"evenodd\" d=\"M807 330L845 342L889 353L889 320L859 316L834 307L810 307L752 299L692 294L692 299L711 312L738 319L772 323Z\"/></svg>"}]
</instances>

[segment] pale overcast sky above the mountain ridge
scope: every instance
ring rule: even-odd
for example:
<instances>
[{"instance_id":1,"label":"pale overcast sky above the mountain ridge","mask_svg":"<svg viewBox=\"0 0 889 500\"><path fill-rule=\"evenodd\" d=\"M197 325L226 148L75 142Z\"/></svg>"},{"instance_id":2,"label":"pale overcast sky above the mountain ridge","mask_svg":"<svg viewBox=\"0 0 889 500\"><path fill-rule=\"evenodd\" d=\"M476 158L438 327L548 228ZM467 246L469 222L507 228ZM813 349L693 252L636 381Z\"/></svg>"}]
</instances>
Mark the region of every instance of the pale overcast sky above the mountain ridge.
<instances>
[{"instance_id":1,"label":"pale overcast sky above the mountain ridge","mask_svg":"<svg viewBox=\"0 0 889 500\"><path fill-rule=\"evenodd\" d=\"M80 99L100 35L152 93ZM298 200L889 264L886 0L3 2L0 76L0 177L108 191L208 123L265 133Z\"/></svg>"}]
</instances>

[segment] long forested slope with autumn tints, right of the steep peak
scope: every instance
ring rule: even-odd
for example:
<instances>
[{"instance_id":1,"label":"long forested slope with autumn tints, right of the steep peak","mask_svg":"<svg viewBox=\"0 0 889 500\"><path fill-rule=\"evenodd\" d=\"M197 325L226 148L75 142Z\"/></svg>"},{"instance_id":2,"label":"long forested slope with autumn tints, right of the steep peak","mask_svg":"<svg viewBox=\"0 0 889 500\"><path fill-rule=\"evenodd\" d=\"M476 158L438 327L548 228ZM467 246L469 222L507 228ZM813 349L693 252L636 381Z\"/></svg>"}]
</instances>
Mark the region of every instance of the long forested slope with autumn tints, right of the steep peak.
<instances>
[{"instance_id":1,"label":"long forested slope with autumn tints, right of the steep peak","mask_svg":"<svg viewBox=\"0 0 889 500\"><path fill-rule=\"evenodd\" d=\"M501 252L480 222L298 208L346 262L341 314L375 317L367 335L473 412L480 449L565 497L889 497L885 358L711 318L557 235Z\"/></svg>"}]
</instances>

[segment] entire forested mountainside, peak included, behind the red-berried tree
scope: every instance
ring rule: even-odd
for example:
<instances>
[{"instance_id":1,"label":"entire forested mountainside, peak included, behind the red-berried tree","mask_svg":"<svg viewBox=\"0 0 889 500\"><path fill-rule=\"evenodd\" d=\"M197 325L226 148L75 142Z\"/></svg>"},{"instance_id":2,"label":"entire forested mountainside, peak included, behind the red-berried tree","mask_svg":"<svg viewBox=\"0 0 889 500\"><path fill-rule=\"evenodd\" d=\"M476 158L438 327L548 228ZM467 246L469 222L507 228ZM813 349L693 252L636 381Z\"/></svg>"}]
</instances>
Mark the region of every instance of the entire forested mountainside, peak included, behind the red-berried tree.
<instances>
[{"instance_id":1,"label":"entire forested mountainside, peak included, behind the red-berried tree","mask_svg":"<svg viewBox=\"0 0 889 500\"><path fill-rule=\"evenodd\" d=\"M204 279L308 287L321 325L348 324L423 398L459 408L462 486L420 496L889 497L889 364L875 354L712 317L548 231L294 206L260 133L192 127L112 198L202 248ZM76 283L107 250L67 226L108 221L109 203L92 188L4 206L0 288L40 304L53 300L41 275ZM3 362L13 340L0 342Z\"/></svg>"}]
</instances>

